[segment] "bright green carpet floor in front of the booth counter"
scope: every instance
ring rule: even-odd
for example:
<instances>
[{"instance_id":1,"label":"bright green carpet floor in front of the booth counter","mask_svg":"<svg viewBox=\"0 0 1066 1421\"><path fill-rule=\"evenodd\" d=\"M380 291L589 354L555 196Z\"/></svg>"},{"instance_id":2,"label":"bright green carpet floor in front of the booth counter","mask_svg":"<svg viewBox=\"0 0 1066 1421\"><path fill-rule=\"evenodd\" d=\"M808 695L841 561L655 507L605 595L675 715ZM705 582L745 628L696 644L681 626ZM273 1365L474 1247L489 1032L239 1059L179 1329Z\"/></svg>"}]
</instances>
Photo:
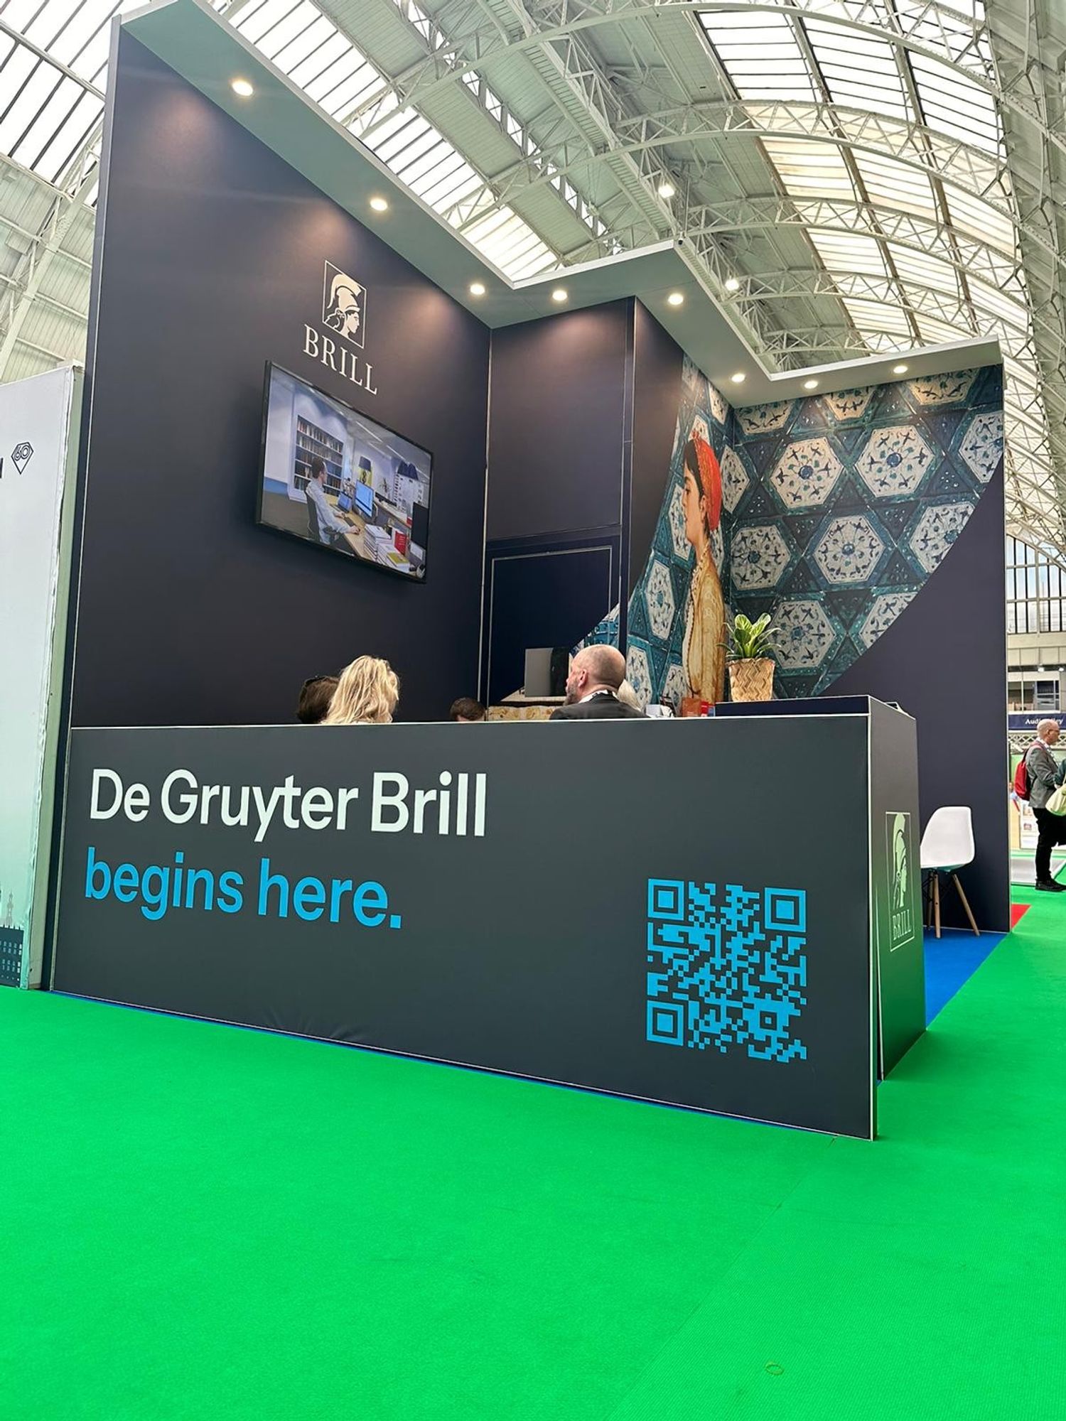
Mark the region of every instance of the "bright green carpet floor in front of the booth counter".
<instances>
[{"instance_id":1,"label":"bright green carpet floor in front of the booth counter","mask_svg":"<svg viewBox=\"0 0 1066 1421\"><path fill-rule=\"evenodd\" d=\"M1065 1005L1043 898L870 1145L0 992L0 1418L1060 1414Z\"/></svg>"}]
</instances>

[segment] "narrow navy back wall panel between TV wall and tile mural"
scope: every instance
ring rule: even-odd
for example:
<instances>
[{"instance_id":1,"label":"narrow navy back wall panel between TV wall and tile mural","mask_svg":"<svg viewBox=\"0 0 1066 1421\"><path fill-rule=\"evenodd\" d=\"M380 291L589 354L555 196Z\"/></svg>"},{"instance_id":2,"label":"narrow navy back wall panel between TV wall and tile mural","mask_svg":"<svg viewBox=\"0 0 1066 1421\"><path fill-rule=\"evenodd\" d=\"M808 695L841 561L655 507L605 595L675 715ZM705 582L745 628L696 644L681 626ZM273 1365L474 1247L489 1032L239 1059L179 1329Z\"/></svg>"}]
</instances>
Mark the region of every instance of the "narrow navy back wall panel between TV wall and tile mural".
<instances>
[{"instance_id":1,"label":"narrow navy back wall panel between TV wall and tile mural","mask_svg":"<svg viewBox=\"0 0 1066 1421\"><path fill-rule=\"evenodd\" d=\"M573 647L618 603L632 301L493 333L482 691L527 647Z\"/></svg>"}]
</instances>

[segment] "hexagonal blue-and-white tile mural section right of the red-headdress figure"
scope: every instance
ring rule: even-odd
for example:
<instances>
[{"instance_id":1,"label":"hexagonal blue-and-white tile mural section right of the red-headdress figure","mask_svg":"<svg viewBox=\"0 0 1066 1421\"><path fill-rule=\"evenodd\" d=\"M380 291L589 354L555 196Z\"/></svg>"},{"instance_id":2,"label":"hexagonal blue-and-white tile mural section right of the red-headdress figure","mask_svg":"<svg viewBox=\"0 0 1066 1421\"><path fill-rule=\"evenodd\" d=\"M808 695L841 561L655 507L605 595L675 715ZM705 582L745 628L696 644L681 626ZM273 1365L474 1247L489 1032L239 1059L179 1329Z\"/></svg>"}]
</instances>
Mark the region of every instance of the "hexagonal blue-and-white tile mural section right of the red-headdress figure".
<instances>
[{"instance_id":1,"label":"hexagonal blue-and-white tile mural section right of the red-headdress figure","mask_svg":"<svg viewBox=\"0 0 1066 1421\"><path fill-rule=\"evenodd\" d=\"M895 621L1003 458L999 367L738 409L738 611L777 624L777 695L829 689Z\"/></svg>"}]
</instances>

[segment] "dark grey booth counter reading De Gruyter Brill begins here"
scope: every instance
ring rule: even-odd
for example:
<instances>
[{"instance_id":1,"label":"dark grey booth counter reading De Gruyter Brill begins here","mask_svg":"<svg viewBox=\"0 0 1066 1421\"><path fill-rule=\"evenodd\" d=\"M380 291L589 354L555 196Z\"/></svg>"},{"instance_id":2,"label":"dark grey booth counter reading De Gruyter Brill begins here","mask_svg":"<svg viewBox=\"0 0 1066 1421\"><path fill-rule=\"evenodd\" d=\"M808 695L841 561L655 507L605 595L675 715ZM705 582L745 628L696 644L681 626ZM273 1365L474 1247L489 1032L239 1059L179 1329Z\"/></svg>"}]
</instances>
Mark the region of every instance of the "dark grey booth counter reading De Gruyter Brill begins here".
<instances>
[{"instance_id":1,"label":"dark grey booth counter reading De Gruyter Brill begins here","mask_svg":"<svg viewBox=\"0 0 1066 1421\"><path fill-rule=\"evenodd\" d=\"M53 985L873 1137L924 1023L914 722L779 710L75 729Z\"/></svg>"}]
</instances>

